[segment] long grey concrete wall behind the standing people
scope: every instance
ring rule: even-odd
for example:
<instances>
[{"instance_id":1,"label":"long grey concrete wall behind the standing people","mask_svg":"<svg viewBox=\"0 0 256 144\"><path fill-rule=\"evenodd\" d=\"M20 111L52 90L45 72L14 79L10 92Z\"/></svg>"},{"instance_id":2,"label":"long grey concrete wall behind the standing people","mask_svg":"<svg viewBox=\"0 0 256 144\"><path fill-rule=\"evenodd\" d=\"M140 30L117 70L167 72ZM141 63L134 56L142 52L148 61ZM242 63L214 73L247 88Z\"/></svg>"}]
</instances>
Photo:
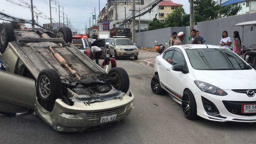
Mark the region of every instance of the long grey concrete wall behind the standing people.
<instances>
[{"instance_id":1,"label":"long grey concrete wall behind the standing people","mask_svg":"<svg viewBox=\"0 0 256 144\"><path fill-rule=\"evenodd\" d=\"M200 36L206 39L206 44L220 45L222 32L226 30L228 36L233 41L233 32L238 31L242 40L242 26L233 26L235 24L247 21L256 21L256 12L225 17L221 19L213 19L210 21L198 22L195 27L200 32ZM251 44L256 44L256 27L250 31L251 26L244 26L243 29L243 45L250 47ZM167 43L172 37L173 32L185 32L185 44L189 44L190 32L189 27L169 27L163 29L149 30L135 34L135 43L140 47L154 47L156 40L159 44Z\"/></svg>"}]
</instances>

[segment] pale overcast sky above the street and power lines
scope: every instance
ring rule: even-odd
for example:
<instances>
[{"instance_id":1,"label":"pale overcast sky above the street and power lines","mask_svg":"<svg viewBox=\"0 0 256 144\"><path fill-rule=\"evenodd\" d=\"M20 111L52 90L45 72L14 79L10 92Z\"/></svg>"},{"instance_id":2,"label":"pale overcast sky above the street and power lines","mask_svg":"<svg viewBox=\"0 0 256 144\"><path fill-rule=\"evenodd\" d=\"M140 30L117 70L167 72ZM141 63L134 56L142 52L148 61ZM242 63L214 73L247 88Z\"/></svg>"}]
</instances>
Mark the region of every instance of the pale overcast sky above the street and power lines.
<instances>
[{"instance_id":1,"label":"pale overcast sky above the street and power lines","mask_svg":"<svg viewBox=\"0 0 256 144\"><path fill-rule=\"evenodd\" d=\"M188 0L172 0L172 1L174 3L183 4L183 8L185 9L185 12L189 13ZM31 19L31 10L29 8L17 6L15 4L12 4L11 2L22 4L23 6L26 6L26 4L24 3L28 3L30 5L30 0L0 0L0 11L6 12L7 14L13 15L15 17ZM67 17L70 18L70 21L73 27L75 29L78 29L80 33L85 33L86 23L87 23L87 26L89 27L89 18L92 17L92 14L90 13L92 12L93 14L95 13L94 7L96 8L96 17L99 15L99 0L51 0L51 7L54 7L54 8L51 8L51 15L53 18L53 22L59 21L58 3L60 6L64 7L64 13L67 14ZM107 3L107 0L100 0L100 10L102 10L102 8L106 6L106 3ZM38 10L40 10L47 17L50 17L49 0L33 0L33 6L38 8ZM60 11L62 11L62 8L60 8ZM61 16L62 15L63 14L61 12ZM66 18L66 15L64 15L64 17ZM65 22L66 21L67 20L65 19ZM0 22L2 21L0 20ZM60 18L60 22L63 22L62 17ZM38 23L40 25L43 25L46 23L50 23L50 20L39 17ZM26 26L31 27L31 25L26 25Z\"/></svg>"}]
</instances>

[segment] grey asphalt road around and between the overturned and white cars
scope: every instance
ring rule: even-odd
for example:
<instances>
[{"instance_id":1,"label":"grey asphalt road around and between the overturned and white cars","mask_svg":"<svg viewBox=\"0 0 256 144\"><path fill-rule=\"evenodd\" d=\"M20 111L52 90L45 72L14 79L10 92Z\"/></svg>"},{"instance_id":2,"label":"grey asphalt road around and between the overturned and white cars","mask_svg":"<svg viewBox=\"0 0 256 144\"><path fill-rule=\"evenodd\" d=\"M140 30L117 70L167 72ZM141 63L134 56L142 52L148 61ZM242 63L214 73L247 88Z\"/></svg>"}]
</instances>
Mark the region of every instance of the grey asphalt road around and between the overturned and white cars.
<instances>
[{"instance_id":1,"label":"grey asphalt road around and between the overturned and white cars","mask_svg":"<svg viewBox=\"0 0 256 144\"><path fill-rule=\"evenodd\" d=\"M22 118L0 115L0 143L255 143L256 123L188 120L182 114L181 105L169 96L154 95L147 78L152 76L153 69L139 64L147 57L154 54L144 52L139 60L121 58L117 61L117 65L127 71L129 89L135 95L131 114L120 123L89 132L66 133L54 130L35 115Z\"/></svg>"}]
</instances>

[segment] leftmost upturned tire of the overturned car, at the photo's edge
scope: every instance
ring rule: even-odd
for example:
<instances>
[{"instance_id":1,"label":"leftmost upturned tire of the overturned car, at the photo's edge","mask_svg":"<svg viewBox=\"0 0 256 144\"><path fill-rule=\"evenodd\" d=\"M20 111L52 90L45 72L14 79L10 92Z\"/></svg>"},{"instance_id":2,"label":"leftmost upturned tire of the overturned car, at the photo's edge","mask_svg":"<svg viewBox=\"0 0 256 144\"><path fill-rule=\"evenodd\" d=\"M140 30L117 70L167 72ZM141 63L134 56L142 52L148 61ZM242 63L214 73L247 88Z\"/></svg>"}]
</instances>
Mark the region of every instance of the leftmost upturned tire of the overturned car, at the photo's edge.
<instances>
[{"instance_id":1,"label":"leftmost upturned tire of the overturned car, at the photo's edge","mask_svg":"<svg viewBox=\"0 0 256 144\"><path fill-rule=\"evenodd\" d=\"M10 22L3 22L0 27L0 52L3 54L9 42L14 41L14 28Z\"/></svg>"}]
</instances>

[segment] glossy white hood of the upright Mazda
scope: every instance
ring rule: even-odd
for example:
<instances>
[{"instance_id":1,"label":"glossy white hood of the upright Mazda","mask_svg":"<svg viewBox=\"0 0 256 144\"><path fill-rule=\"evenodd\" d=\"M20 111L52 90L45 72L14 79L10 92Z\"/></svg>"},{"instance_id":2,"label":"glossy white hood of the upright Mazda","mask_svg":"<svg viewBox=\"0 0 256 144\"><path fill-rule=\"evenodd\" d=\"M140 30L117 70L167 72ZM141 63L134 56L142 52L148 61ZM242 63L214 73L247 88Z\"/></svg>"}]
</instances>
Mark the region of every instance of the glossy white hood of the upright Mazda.
<instances>
[{"instance_id":1,"label":"glossy white hood of the upright Mazda","mask_svg":"<svg viewBox=\"0 0 256 144\"><path fill-rule=\"evenodd\" d=\"M195 70L197 80L212 84L223 90L256 89L256 71L250 70L223 70L203 71Z\"/></svg>"}]
</instances>

